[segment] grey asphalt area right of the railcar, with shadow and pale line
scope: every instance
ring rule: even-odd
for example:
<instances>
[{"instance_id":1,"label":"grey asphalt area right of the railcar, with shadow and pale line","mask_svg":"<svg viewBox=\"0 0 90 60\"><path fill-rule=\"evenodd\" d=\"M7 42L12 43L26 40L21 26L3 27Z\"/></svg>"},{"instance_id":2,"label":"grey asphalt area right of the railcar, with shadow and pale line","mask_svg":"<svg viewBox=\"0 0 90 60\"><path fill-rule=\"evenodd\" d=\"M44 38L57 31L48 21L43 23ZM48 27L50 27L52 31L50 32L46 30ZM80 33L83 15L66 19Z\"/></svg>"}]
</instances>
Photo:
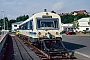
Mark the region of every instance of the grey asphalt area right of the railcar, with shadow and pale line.
<instances>
[{"instance_id":1,"label":"grey asphalt area right of the railcar, with shadow and pale line","mask_svg":"<svg viewBox=\"0 0 90 60\"><path fill-rule=\"evenodd\" d=\"M90 36L63 35L63 42L79 60L90 60Z\"/></svg>"}]
</instances>

